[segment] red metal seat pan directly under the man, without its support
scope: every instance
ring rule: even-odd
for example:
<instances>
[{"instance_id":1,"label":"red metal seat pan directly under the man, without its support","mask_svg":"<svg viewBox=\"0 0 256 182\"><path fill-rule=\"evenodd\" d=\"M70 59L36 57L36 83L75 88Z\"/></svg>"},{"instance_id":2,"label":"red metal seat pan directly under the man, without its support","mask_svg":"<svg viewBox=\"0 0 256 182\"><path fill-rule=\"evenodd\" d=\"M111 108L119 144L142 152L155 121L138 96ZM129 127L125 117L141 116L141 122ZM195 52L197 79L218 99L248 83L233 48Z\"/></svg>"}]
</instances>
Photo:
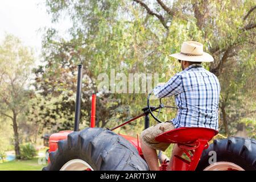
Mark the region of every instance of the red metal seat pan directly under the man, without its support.
<instances>
[{"instance_id":1,"label":"red metal seat pan directly under the man, without its support","mask_svg":"<svg viewBox=\"0 0 256 182\"><path fill-rule=\"evenodd\" d=\"M165 143L196 144L199 140L211 140L217 130L205 127L180 127L158 135L155 140Z\"/></svg>"}]
</instances>

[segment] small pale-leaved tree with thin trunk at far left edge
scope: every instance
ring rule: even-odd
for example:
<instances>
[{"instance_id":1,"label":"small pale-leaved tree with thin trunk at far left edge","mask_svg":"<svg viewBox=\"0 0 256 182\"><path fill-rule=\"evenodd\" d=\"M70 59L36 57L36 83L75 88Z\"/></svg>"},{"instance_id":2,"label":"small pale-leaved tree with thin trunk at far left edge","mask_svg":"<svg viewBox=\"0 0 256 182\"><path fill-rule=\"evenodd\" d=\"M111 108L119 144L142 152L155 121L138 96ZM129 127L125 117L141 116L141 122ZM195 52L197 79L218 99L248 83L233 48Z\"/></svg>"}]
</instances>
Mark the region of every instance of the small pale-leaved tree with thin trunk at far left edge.
<instances>
[{"instance_id":1,"label":"small pale-leaved tree with thin trunk at far left edge","mask_svg":"<svg viewBox=\"0 0 256 182\"><path fill-rule=\"evenodd\" d=\"M20 155L18 121L32 96L28 89L32 63L32 51L23 46L18 38L6 35L0 44L0 114L13 123L17 158Z\"/></svg>"}]
</instances>

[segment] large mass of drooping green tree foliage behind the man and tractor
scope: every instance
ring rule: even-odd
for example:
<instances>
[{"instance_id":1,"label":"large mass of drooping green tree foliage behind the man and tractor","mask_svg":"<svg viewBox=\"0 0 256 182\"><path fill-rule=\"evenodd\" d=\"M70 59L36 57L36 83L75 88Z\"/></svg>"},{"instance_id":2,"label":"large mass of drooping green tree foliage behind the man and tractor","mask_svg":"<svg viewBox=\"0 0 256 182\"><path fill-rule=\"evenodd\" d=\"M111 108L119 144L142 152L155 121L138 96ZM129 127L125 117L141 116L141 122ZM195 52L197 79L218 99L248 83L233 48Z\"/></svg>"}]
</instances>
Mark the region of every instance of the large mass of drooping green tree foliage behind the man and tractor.
<instances>
[{"instance_id":1,"label":"large mass of drooping green tree foliage behind the man and tractor","mask_svg":"<svg viewBox=\"0 0 256 182\"><path fill-rule=\"evenodd\" d=\"M61 16L73 22L69 39L52 28L46 31L43 40L46 66L34 70L35 87L43 96L61 96L60 102L55 101L61 109L49 109L46 115L63 113L63 117L55 121L70 118L63 122L64 127L73 126L77 64L84 65L81 120L88 126L90 96L97 92L100 73L110 76L112 68L126 76L159 73L159 81L165 82L181 70L177 61L168 55L178 52L184 40L204 43L204 51L214 57L214 63L204 67L221 82L220 130L232 133L236 127L233 122L238 123L245 117L246 109L253 110L250 107L253 101L247 93L253 92L255 86L246 84L249 79L255 81L255 5L252 1L47 0L46 5L53 22L60 21ZM245 85L246 92L241 92ZM245 100L250 103L241 109L239 106ZM174 101L169 102L174 105ZM117 125L140 113L144 106L146 93L98 93L97 126ZM173 111L167 115L168 119L175 117ZM118 132L138 133L143 128L142 122L140 119Z\"/></svg>"}]
</instances>

